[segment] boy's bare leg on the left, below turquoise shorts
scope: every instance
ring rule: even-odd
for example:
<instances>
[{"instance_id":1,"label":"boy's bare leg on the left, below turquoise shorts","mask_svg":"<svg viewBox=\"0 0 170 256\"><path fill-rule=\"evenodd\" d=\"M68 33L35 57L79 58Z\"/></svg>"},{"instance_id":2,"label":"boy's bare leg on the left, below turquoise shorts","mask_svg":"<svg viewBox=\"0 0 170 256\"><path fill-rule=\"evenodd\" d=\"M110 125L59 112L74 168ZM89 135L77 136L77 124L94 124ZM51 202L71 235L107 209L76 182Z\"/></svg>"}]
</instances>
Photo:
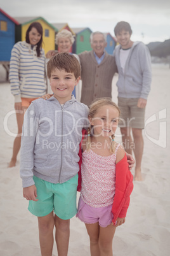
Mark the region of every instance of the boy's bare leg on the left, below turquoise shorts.
<instances>
[{"instance_id":1,"label":"boy's bare leg on the left, below turquoise shorts","mask_svg":"<svg viewBox=\"0 0 170 256\"><path fill-rule=\"evenodd\" d=\"M38 217L39 244L42 256L51 256L53 252L53 228L55 224L53 211L44 217Z\"/></svg>"}]
</instances>

